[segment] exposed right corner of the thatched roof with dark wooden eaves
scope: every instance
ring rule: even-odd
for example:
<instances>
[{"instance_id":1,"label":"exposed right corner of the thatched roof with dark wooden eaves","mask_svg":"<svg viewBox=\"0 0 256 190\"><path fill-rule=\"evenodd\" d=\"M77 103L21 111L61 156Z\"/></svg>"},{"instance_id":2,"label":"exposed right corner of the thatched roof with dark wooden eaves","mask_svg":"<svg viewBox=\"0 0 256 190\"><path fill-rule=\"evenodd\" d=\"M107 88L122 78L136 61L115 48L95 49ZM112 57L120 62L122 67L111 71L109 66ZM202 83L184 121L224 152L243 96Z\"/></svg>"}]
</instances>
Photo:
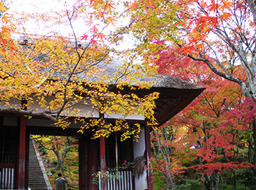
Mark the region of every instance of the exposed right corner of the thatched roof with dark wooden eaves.
<instances>
[{"instance_id":1,"label":"exposed right corner of the thatched roof with dark wooden eaves","mask_svg":"<svg viewBox=\"0 0 256 190\"><path fill-rule=\"evenodd\" d=\"M120 61L120 60L119 60ZM105 72L112 74L120 64L115 61L114 64L108 64ZM146 95L152 92L159 92L160 97L155 101L155 118L161 126L171 119L173 116L183 110L191 101L193 101L205 87L200 87L189 83L187 80L182 80L168 75L156 75L154 77L139 78L140 82L152 82L150 89L137 89L133 91L138 95ZM112 89L113 91L117 89ZM124 88L123 93L131 92L130 88Z\"/></svg>"}]
</instances>

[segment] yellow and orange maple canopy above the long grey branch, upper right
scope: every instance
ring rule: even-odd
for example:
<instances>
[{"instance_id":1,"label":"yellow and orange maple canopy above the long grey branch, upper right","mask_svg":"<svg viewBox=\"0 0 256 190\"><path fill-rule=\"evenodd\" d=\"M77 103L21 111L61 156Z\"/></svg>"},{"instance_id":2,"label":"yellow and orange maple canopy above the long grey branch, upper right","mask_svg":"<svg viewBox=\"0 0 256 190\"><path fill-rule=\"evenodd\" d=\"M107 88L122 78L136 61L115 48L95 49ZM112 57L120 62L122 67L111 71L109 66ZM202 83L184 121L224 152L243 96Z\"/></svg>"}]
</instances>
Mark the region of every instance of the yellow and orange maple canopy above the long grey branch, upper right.
<instances>
[{"instance_id":1,"label":"yellow and orange maple canopy above the long grey branch, upper right","mask_svg":"<svg viewBox=\"0 0 256 190\"><path fill-rule=\"evenodd\" d=\"M176 45L180 53L239 84L256 103L253 1L134 1L129 10L130 25L122 30L137 38L137 51L145 59L157 59L155 51ZM234 71L237 65L242 66L239 73Z\"/></svg>"}]
</instances>

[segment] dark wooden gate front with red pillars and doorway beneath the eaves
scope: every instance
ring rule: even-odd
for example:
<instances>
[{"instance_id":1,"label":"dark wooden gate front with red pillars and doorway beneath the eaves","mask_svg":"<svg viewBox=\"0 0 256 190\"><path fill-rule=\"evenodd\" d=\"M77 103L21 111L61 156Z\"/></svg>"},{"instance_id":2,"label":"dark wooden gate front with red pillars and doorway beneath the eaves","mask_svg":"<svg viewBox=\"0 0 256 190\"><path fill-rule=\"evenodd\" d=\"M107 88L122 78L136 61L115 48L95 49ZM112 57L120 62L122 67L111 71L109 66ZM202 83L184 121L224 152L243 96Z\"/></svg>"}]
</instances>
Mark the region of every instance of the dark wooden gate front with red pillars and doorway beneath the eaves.
<instances>
[{"instance_id":1,"label":"dark wooden gate front with red pillars and doorway beneath the eaves","mask_svg":"<svg viewBox=\"0 0 256 190\"><path fill-rule=\"evenodd\" d=\"M77 131L78 128L75 125L62 130L62 128L53 126L46 119L23 118L22 120L19 117L0 117L0 189L28 189L30 187L31 189L43 190L39 187L33 187L31 183L35 182L42 187L39 181L44 181L45 176L49 176L49 180L52 179L52 184L55 184L57 174L61 171L56 170L58 161L51 159L49 155L44 155L44 149L51 149L52 146L42 147L40 144L35 144L31 141L33 135L42 135L46 138L45 135L56 137L57 145L61 143L62 139L76 139L76 146L69 151L73 157L66 159L68 163L64 164L64 172L69 180L68 189L103 189L99 182L98 184L94 183L99 180L99 178L95 178L95 174L110 169L108 175L111 176L113 175L112 171L117 168L118 174L114 175L117 177L108 178L104 182L105 188L108 190L117 188L119 190L137 189L135 188L136 179L132 175L132 169L120 166L133 162L136 157L144 155L144 132L139 137L139 143L135 143L132 138L121 141L121 132L112 132L108 138L92 139L90 130L83 134ZM45 139L43 141L45 142ZM63 150L59 150L59 152L63 153ZM77 170L69 171L68 167L73 163L76 163ZM54 164L55 166L50 166ZM46 166L44 173L42 173L43 165ZM35 171L38 170L44 176L41 178L42 180L35 174ZM69 175L70 173L76 174L78 178ZM101 178L102 176L99 175L98 177ZM19 186L24 187L20 188ZM45 189L51 189L51 187L46 185ZM52 189L55 189L54 186Z\"/></svg>"}]
</instances>

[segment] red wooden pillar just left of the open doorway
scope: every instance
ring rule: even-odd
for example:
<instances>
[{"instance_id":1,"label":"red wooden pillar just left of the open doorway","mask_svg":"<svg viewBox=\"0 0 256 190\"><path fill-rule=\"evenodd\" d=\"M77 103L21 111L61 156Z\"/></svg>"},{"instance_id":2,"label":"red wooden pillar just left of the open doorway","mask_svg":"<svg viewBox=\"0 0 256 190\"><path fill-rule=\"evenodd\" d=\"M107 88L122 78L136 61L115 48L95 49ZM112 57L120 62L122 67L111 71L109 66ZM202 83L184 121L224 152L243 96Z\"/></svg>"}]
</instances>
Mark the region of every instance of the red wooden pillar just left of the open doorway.
<instances>
[{"instance_id":1,"label":"red wooden pillar just left of the open doorway","mask_svg":"<svg viewBox=\"0 0 256 190\"><path fill-rule=\"evenodd\" d=\"M18 155L18 169L17 169L17 188L28 189L26 185L26 117L20 117L19 126L19 155Z\"/></svg>"}]
</instances>

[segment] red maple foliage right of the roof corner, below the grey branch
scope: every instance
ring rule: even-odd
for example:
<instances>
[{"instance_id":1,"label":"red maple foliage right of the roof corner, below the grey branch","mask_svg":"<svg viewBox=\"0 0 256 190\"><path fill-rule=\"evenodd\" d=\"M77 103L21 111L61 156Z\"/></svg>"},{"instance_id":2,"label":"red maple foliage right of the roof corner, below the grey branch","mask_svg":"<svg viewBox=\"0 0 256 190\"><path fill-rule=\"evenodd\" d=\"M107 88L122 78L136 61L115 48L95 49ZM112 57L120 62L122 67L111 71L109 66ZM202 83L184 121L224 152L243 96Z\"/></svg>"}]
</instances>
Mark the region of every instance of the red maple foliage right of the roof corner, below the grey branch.
<instances>
[{"instance_id":1,"label":"red maple foliage right of the roof corner, below the grey branch","mask_svg":"<svg viewBox=\"0 0 256 190\"><path fill-rule=\"evenodd\" d=\"M163 44L163 41L157 42ZM169 123L154 131L152 137L157 172L162 171L166 188L179 189L180 180L200 173L206 189L218 189L223 183L237 189L237 173L253 168L248 137L253 110L239 85L214 76L203 62L178 54L178 49L160 51L158 72L172 74L206 87L194 103ZM241 67L236 68L237 71ZM186 177L185 177L186 176Z\"/></svg>"}]
</instances>

